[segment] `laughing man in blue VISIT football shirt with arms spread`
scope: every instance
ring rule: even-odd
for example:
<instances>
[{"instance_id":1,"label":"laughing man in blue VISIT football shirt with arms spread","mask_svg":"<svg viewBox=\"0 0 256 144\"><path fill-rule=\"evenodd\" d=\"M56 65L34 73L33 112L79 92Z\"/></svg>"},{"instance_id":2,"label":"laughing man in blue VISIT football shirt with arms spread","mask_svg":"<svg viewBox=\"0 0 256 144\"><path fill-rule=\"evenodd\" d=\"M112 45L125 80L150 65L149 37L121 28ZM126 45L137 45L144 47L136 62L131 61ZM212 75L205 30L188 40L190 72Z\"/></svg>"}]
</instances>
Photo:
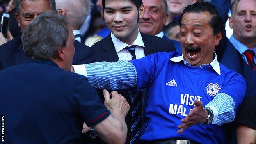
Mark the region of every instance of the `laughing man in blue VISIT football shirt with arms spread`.
<instances>
[{"instance_id":1,"label":"laughing man in blue VISIT football shirt with arms spread","mask_svg":"<svg viewBox=\"0 0 256 144\"><path fill-rule=\"evenodd\" d=\"M217 61L223 24L216 7L198 2L181 14L179 53L74 66L100 89L147 88L142 143L227 143L222 124L235 119L245 80Z\"/></svg>"}]
</instances>

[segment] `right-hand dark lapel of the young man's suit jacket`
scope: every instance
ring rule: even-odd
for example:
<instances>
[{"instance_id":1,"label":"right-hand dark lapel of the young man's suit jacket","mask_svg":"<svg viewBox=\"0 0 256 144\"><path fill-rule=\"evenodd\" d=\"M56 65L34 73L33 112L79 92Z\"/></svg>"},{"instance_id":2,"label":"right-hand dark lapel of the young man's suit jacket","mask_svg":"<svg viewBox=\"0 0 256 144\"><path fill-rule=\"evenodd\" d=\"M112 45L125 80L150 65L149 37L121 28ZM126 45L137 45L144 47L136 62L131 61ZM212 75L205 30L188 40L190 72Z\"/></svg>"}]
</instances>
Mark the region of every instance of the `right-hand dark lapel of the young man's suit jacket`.
<instances>
[{"instance_id":1,"label":"right-hand dark lapel of the young man's suit jacket","mask_svg":"<svg viewBox=\"0 0 256 144\"><path fill-rule=\"evenodd\" d=\"M144 48L145 56L150 55L152 53L156 53L156 46L153 43L153 39L150 39L149 37L147 37L146 34L141 33L141 36L145 46Z\"/></svg>"}]
</instances>

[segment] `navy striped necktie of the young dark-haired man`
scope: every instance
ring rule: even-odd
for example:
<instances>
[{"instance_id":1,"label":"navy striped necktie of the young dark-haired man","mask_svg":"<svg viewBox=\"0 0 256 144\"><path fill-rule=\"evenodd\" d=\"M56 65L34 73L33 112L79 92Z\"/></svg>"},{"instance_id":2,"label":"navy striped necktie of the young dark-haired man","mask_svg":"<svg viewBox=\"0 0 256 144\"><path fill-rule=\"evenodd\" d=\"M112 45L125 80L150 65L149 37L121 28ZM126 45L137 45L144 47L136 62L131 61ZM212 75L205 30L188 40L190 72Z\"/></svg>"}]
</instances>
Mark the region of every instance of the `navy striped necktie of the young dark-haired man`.
<instances>
[{"instance_id":1,"label":"navy striped necktie of the young dark-haired man","mask_svg":"<svg viewBox=\"0 0 256 144\"><path fill-rule=\"evenodd\" d=\"M132 59L136 59L135 55L136 45L127 46L127 49ZM131 98L131 112L132 112L132 128L131 128L131 140L130 144L139 144L139 138L142 132L142 93L141 90L129 91Z\"/></svg>"}]
</instances>

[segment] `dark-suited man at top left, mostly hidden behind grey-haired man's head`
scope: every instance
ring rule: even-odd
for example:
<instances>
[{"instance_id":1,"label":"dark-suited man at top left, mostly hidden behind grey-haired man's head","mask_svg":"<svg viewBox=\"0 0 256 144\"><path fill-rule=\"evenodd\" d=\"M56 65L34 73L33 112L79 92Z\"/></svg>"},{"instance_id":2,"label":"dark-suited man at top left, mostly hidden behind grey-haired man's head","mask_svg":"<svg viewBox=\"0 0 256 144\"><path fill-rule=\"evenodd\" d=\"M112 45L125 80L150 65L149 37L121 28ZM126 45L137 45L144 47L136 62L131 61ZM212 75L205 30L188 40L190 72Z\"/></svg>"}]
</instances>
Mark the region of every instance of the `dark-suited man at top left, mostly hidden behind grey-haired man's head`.
<instances>
[{"instance_id":1,"label":"dark-suited man at top left, mostly hidden behind grey-haired man's head","mask_svg":"<svg viewBox=\"0 0 256 144\"><path fill-rule=\"evenodd\" d=\"M21 32L23 32L25 27L43 11L56 9L55 0L16 0L15 7L17 9L15 17L18 21L18 25L21 27ZM74 46L75 55L73 64L94 62L95 55L93 50L78 41L74 41ZM21 64L25 59L21 37L17 37L0 46L0 70Z\"/></svg>"}]
</instances>

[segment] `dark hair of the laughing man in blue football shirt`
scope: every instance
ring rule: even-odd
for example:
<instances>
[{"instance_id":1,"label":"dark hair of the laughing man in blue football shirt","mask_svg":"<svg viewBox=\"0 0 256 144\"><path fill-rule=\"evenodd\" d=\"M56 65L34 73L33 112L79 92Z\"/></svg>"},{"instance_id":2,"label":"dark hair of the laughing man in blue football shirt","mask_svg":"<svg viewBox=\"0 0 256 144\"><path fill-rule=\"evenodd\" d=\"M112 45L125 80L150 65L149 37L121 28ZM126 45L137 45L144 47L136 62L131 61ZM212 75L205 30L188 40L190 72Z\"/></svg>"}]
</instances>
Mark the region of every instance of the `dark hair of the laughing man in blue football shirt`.
<instances>
[{"instance_id":1,"label":"dark hair of the laughing man in blue football shirt","mask_svg":"<svg viewBox=\"0 0 256 144\"><path fill-rule=\"evenodd\" d=\"M185 9L181 14L180 23L185 13L202 13L202 12L209 12L212 15L212 18L210 19L209 23L210 23L210 26L213 28L214 35L223 31L224 24L222 22L222 18L217 11L217 7L212 5L210 2L197 2L185 7Z\"/></svg>"}]
</instances>

